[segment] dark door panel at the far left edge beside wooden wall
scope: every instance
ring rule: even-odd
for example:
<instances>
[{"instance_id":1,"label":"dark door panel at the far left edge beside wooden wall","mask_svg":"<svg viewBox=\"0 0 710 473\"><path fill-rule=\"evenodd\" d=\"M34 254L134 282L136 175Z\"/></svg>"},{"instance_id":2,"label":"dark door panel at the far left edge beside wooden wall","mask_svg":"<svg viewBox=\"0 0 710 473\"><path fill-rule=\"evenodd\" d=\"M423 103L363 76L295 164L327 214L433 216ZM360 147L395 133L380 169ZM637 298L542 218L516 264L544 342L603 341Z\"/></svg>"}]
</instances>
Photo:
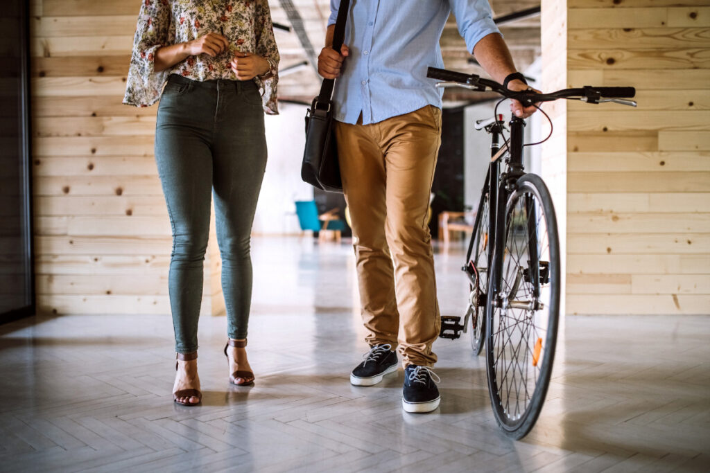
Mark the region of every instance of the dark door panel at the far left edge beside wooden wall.
<instances>
[{"instance_id":1,"label":"dark door panel at the far left edge beside wooden wall","mask_svg":"<svg viewBox=\"0 0 710 473\"><path fill-rule=\"evenodd\" d=\"M8 0L0 11L0 323L35 311L28 4Z\"/></svg>"}]
</instances>

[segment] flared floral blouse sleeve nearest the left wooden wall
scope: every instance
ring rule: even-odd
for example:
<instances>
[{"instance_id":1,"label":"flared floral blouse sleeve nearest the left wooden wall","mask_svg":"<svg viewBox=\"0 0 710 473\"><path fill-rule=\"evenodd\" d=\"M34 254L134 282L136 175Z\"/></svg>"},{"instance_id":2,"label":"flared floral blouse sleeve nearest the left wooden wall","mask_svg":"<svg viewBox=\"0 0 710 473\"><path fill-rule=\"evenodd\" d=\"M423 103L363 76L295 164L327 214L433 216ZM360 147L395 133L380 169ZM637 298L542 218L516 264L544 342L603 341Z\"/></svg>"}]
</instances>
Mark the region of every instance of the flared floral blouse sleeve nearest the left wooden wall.
<instances>
[{"instance_id":1,"label":"flared floral blouse sleeve nearest the left wooden wall","mask_svg":"<svg viewBox=\"0 0 710 473\"><path fill-rule=\"evenodd\" d=\"M155 72L155 50L170 38L170 2L143 0L138 13L124 104L148 106L160 99L166 71Z\"/></svg>"}]
</instances>

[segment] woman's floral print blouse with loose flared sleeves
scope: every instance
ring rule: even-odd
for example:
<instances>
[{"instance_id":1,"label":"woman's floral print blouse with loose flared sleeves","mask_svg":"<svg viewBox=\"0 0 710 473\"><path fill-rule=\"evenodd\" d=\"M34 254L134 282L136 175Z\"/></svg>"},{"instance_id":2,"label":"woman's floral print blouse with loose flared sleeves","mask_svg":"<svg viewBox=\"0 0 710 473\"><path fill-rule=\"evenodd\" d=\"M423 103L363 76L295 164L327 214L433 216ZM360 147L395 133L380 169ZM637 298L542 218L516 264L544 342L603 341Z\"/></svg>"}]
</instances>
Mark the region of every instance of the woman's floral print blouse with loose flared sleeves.
<instances>
[{"instance_id":1,"label":"woman's floral print blouse with loose flared sleeves","mask_svg":"<svg viewBox=\"0 0 710 473\"><path fill-rule=\"evenodd\" d=\"M229 40L229 49L217 57L190 56L173 67L155 72L155 50L185 43L207 33L224 35ZM163 82L170 74L198 81L236 80L229 67L236 51L253 52L278 65L280 57L273 37L268 0L143 0L133 38L124 104L155 104L160 99ZM253 80L262 89L264 111L277 114L278 74L269 79L255 77Z\"/></svg>"}]
</instances>

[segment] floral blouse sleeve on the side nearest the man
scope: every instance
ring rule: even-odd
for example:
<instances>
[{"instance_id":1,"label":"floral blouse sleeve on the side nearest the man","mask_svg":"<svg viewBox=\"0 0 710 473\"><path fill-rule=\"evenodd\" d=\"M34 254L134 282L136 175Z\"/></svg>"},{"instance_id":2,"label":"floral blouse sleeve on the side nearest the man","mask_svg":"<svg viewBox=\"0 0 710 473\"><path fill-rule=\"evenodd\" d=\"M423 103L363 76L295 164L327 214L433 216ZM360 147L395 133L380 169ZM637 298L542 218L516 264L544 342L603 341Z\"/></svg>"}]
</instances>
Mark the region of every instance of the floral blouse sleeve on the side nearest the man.
<instances>
[{"instance_id":1,"label":"floral blouse sleeve on the side nearest the man","mask_svg":"<svg viewBox=\"0 0 710 473\"><path fill-rule=\"evenodd\" d=\"M271 11L267 0L256 0L256 18L254 21L254 35L256 37L255 53L261 57L271 59L277 66L273 77L261 79L256 77L256 83L263 89L262 100L264 111L268 115L278 114L276 84L278 84L278 62L280 56L276 47L276 40L273 35L273 23L271 21Z\"/></svg>"}]
</instances>

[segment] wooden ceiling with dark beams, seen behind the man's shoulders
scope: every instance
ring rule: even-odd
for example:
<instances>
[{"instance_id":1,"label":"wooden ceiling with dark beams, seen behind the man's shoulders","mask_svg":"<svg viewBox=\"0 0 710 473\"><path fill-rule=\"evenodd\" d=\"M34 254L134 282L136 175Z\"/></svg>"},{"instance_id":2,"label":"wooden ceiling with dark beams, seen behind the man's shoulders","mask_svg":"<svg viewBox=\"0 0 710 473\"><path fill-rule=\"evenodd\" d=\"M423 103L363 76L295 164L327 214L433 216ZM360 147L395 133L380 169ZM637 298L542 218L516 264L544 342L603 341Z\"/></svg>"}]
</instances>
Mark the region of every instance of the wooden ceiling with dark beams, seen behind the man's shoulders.
<instances>
[{"instance_id":1,"label":"wooden ceiling with dark beams, seen behind the man's shoulders","mask_svg":"<svg viewBox=\"0 0 710 473\"><path fill-rule=\"evenodd\" d=\"M493 18L508 13L540 6L540 0L489 0L493 9ZM307 62L308 57L297 35L297 21L293 21L293 11L289 15L289 5L293 4L298 16L302 18L302 30L310 40L317 55L322 49L327 19L330 13L329 0L269 0L274 23L296 26L290 32L275 28L276 42L281 54L280 69ZM290 18L289 18L290 16ZM515 60L518 70L524 71L540 55L540 16L533 16L500 26L501 33ZM440 41L444 67L475 74L486 75L478 65L471 63L471 55L461 39L454 16L449 18ZM310 103L320 89L321 78L312 65L302 65L293 72L283 73L279 79L278 91L282 100L303 101ZM444 101L479 101L481 94L476 92L448 89Z\"/></svg>"}]
</instances>

